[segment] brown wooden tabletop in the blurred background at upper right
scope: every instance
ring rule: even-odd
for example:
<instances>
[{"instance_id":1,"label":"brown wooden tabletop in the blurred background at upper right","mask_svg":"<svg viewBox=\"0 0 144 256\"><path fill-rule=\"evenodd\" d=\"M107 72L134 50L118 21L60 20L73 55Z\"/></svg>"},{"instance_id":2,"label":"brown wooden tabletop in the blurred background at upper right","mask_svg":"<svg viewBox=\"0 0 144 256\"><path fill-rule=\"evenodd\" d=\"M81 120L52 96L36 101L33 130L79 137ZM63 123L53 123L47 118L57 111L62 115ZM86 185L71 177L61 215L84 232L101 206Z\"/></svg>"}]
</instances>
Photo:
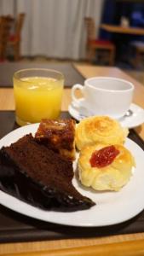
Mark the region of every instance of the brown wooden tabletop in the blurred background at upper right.
<instances>
[{"instance_id":1,"label":"brown wooden tabletop in the blurred background at upper right","mask_svg":"<svg viewBox=\"0 0 144 256\"><path fill-rule=\"evenodd\" d=\"M144 29L141 27L114 26L109 24L101 24L100 27L106 30L107 32L144 35Z\"/></svg>"}]
</instances>

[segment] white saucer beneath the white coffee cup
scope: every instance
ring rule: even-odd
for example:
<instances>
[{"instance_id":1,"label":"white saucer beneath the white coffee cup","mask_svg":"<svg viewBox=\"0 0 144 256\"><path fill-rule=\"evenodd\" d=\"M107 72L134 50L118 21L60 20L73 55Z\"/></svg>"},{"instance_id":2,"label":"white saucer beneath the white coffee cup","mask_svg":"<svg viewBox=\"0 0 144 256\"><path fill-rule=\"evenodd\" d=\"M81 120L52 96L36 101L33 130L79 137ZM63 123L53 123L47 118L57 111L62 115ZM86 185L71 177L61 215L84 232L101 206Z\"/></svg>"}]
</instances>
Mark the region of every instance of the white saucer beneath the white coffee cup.
<instances>
[{"instance_id":1,"label":"white saucer beneath the white coffee cup","mask_svg":"<svg viewBox=\"0 0 144 256\"><path fill-rule=\"evenodd\" d=\"M132 114L130 116L124 116L122 119L119 119L119 122L124 127L134 128L138 125L141 125L144 123L144 109L135 105L130 105L130 110L132 111ZM68 112L72 115L72 117L78 121L84 119L86 116L84 114L81 114L78 112L78 108L74 108L71 105L68 107Z\"/></svg>"}]
</instances>

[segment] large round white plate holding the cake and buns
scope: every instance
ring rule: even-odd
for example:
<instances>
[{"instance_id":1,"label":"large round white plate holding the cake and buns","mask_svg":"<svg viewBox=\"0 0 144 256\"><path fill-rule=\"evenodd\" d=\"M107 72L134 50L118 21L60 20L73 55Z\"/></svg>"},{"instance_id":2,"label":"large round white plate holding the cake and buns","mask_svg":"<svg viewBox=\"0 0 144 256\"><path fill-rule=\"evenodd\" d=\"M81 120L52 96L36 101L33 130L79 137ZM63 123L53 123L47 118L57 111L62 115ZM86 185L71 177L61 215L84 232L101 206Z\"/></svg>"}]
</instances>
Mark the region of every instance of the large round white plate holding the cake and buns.
<instances>
[{"instance_id":1,"label":"large round white plate holding the cake and buns","mask_svg":"<svg viewBox=\"0 0 144 256\"><path fill-rule=\"evenodd\" d=\"M37 131L37 126L38 124L26 125L10 132L0 140L0 148L14 143L27 133L32 132L34 134ZM136 168L130 182L119 192L95 192L92 189L84 189L73 178L76 189L96 202L96 206L89 210L78 212L43 211L3 193L3 191L0 191L0 203L15 212L55 224L94 227L124 222L144 208L144 152L129 138L126 140L125 146L135 156Z\"/></svg>"}]
</instances>

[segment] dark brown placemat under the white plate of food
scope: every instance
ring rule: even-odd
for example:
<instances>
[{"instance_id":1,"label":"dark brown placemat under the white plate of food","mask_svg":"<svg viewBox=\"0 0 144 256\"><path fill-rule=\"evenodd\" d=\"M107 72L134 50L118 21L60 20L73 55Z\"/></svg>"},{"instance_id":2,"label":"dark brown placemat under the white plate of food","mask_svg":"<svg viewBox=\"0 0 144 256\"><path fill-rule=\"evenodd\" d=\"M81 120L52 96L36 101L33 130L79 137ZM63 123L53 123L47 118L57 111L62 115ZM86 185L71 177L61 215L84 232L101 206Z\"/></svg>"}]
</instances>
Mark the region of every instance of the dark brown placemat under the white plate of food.
<instances>
[{"instance_id":1,"label":"dark brown placemat under the white plate of food","mask_svg":"<svg viewBox=\"0 0 144 256\"><path fill-rule=\"evenodd\" d=\"M61 117L69 118L70 115L63 112ZM0 122L0 138L18 127L14 122L14 111L0 111ZM144 142L136 135L135 131L131 130L129 137L144 149ZM122 224L101 228L81 228L46 223L0 205L0 242L110 236L137 232L144 232L144 211Z\"/></svg>"}]
</instances>

